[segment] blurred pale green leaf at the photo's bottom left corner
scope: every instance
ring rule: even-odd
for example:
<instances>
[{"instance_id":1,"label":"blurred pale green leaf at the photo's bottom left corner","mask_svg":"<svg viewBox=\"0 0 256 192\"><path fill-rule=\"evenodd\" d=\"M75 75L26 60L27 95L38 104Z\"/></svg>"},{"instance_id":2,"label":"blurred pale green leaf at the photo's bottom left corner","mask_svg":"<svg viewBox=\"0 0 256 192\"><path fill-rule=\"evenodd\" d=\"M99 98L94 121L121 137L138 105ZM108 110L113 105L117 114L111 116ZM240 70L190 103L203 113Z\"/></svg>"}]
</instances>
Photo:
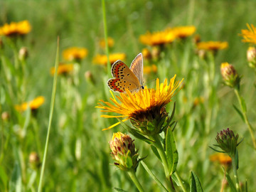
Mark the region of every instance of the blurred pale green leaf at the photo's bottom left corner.
<instances>
[{"instance_id":1,"label":"blurred pale green leaf at the photo's bottom left corner","mask_svg":"<svg viewBox=\"0 0 256 192\"><path fill-rule=\"evenodd\" d=\"M18 162L15 163L14 171L11 174L9 190L21 192L21 168L20 168Z\"/></svg>"}]
</instances>

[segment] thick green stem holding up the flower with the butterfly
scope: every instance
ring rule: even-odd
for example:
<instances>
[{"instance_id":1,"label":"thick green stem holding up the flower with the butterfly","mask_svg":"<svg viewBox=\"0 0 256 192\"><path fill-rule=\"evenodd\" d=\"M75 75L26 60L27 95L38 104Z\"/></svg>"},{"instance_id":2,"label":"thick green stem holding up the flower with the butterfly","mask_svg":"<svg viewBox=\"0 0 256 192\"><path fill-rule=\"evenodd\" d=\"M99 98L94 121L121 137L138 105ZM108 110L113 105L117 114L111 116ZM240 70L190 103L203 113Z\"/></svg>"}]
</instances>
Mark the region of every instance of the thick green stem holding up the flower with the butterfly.
<instances>
[{"instance_id":1,"label":"thick green stem holding up the flower with the butterfly","mask_svg":"<svg viewBox=\"0 0 256 192\"><path fill-rule=\"evenodd\" d=\"M156 147L157 151L159 152L162 164L164 166L164 173L165 173L166 180L167 180L167 188L169 191L175 191L174 183L172 183L171 176L169 175L168 161L166 158L164 147L161 144L159 134L152 136L151 139L154 140L154 146Z\"/></svg>"}]
</instances>

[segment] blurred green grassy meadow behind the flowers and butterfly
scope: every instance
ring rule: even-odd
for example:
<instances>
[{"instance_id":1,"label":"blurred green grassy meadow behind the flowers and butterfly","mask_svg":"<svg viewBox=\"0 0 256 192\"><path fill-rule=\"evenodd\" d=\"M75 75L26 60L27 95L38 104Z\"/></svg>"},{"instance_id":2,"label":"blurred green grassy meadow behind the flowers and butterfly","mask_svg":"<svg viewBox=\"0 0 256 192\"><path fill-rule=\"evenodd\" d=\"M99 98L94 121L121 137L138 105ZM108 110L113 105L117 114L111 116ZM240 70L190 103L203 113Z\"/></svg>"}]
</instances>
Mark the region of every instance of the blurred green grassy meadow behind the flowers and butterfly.
<instances>
[{"instance_id":1,"label":"blurred green grassy meadow behind the flowers and butterfly","mask_svg":"<svg viewBox=\"0 0 256 192\"><path fill-rule=\"evenodd\" d=\"M160 82L175 74L178 80L184 78L183 89L174 97L174 119L178 121L174 132L179 154L177 169L187 182L189 171L193 170L205 191L220 191L223 171L220 164L210 161L209 156L215 152L208 146L215 144L217 132L228 127L244 138L238 147L240 181L247 181L249 191L256 188L256 154L250 134L233 108L233 104L239 106L233 90L223 85L220 75L220 63L228 62L242 76L240 92L247 105L248 118L255 127L255 71L247 65L248 44L242 43L242 37L238 36L241 29L247 28L246 23L255 24L255 7L256 1L242 0L106 1L107 32L114 39L110 53L127 54L124 60L127 65L146 47L139 42L139 36L146 31L193 25L202 41L228 42L228 48L215 55L213 82L207 82L210 73L207 61L196 55L193 37L186 43L174 43L154 63L158 67L157 73L144 75L148 87L155 86L156 78ZM88 54L80 65L78 85L73 85L67 76L58 75L43 191L114 191L114 187L136 191L127 175L111 165L113 160L108 142L113 132L124 132L124 129L119 125L102 132L117 120L100 117L102 112L95 108L98 100L107 101L111 96L106 83L111 77L107 75L106 66L92 63L95 55L105 54L99 46L99 41L104 38L101 1L0 1L1 26L23 20L31 23L32 30L17 42L18 48L28 48L26 86L22 97L9 99L9 82L6 82L3 65L0 66L0 112L9 113L9 119L1 119L0 124L0 191L16 191L20 186L21 191L38 188L40 169L31 167L29 155L36 151L43 159L53 87L50 68L55 63L58 36L60 53L65 48L78 46L87 48ZM4 55L13 62L13 51L6 41L3 42ZM181 69L183 62L186 62L185 69ZM94 82L86 80L88 70ZM208 85L214 87L211 101L206 97ZM11 86L16 87L14 82ZM40 95L46 101L36 114L15 110L14 105ZM204 101L193 107L197 97L203 97ZM169 111L172 105L169 104ZM206 120L208 114L210 124ZM154 154L150 147L138 139L135 145L140 156L148 156L144 161L151 170L164 179L161 163L159 159L151 158ZM161 191L141 165L137 176L146 191ZM230 176L233 176L232 171Z\"/></svg>"}]
</instances>

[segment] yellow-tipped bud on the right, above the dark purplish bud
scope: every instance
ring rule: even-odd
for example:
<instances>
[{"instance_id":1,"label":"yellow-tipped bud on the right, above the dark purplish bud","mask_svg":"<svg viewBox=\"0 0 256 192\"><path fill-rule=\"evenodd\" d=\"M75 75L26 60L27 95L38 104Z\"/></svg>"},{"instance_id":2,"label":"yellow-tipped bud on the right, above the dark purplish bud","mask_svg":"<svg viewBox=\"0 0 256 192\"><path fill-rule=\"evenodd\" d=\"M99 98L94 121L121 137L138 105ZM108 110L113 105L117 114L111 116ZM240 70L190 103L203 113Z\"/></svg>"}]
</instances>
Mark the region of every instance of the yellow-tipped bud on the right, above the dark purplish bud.
<instances>
[{"instance_id":1,"label":"yellow-tipped bud on the right, above the dark purplish bud","mask_svg":"<svg viewBox=\"0 0 256 192\"><path fill-rule=\"evenodd\" d=\"M223 76L225 85L228 85L229 87L240 87L240 77L233 65L230 65L229 63L221 63L220 72Z\"/></svg>"}]
</instances>

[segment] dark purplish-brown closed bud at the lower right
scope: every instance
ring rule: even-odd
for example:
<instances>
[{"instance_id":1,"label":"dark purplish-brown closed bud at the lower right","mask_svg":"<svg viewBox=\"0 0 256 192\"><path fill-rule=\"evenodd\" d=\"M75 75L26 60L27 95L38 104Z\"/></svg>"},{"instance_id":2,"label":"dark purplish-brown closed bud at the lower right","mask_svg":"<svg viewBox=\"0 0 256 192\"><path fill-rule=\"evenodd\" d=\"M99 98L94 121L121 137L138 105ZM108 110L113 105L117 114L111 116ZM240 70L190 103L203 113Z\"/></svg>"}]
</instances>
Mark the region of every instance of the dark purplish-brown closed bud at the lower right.
<instances>
[{"instance_id":1,"label":"dark purplish-brown closed bud at the lower right","mask_svg":"<svg viewBox=\"0 0 256 192\"><path fill-rule=\"evenodd\" d=\"M235 135L234 132L228 128L220 131L215 139L220 149L223 149L229 156L233 156L235 155L236 147L238 146L238 137L238 134Z\"/></svg>"}]
</instances>

